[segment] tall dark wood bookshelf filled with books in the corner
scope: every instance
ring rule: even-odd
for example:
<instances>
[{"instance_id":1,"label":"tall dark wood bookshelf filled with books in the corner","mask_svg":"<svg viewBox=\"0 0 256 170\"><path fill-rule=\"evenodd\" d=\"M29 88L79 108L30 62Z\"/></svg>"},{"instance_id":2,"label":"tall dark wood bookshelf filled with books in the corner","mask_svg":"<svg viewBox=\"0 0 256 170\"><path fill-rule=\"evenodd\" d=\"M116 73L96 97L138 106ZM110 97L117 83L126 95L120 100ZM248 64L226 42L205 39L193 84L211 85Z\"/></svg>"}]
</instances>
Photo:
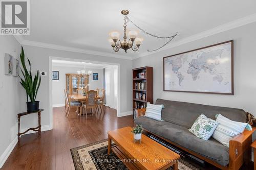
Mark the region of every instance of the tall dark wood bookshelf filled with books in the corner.
<instances>
[{"instance_id":1,"label":"tall dark wood bookshelf filled with books in the corner","mask_svg":"<svg viewBox=\"0 0 256 170\"><path fill-rule=\"evenodd\" d=\"M144 77L140 77L143 72ZM142 75L143 75L142 74ZM136 86L137 84L137 86ZM142 85L143 84L143 85ZM141 85L141 86L139 86ZM143 88L144 87L144 88ZM137 99L139 97L144 99ZM147 102L153 103L153 67L140 67L133 69L133 117L136 109L146 107ZM137 108L136 108L137 103Z\"/></svg>"}]
</instances>

